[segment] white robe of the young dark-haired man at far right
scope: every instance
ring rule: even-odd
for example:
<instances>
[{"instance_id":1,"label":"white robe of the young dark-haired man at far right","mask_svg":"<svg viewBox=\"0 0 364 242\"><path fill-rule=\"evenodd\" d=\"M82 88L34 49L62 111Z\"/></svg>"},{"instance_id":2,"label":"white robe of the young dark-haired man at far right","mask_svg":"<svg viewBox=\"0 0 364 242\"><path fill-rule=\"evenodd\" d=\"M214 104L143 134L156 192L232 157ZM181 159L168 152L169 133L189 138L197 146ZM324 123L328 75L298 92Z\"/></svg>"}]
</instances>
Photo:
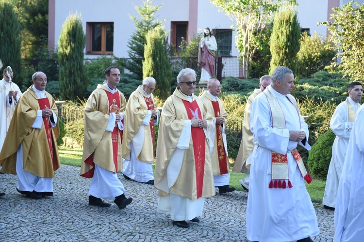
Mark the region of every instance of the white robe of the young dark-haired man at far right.
<instances>
[{"instance_id":1,"label":"white robe of the young dark-haired man at far right","mask_svg":"<svg viewBox=\"0 0 364 242\"><path fill-rule=\"evenodd\" d=\"M360 104L355 103L350 97L347 98L353 111L356 113ZM326 179L325 194L322 204L335 208L337 188L339 186L341 171L343 169L347 144L351 133L353 122L349 122L347 102L339 104L333 113L330 121L330 128L336 135L332 145L332 156Z\"/></svg>"}]
</instances>

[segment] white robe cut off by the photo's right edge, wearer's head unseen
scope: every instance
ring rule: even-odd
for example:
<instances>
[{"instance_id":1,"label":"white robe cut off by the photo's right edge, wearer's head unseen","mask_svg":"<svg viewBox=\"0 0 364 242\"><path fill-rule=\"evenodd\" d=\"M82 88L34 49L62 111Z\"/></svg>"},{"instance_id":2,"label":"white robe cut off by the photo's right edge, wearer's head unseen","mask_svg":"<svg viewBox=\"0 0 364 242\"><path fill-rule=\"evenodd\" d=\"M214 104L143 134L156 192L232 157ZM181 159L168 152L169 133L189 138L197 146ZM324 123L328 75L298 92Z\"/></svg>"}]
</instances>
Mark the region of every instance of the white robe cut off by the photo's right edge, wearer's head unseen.
<instances>
[{"instance_id":1,"label":"white robe cut off by the photo's right edge, wearer's head unseen","mask_svg":"<svg viewBox=\"0 0 364 242\"><path fill-rule=\"evenodd\" d=\"M334 242L356 242L364 238L364 106L356 113L335 207Z\"/></svg>"}]
</instances>

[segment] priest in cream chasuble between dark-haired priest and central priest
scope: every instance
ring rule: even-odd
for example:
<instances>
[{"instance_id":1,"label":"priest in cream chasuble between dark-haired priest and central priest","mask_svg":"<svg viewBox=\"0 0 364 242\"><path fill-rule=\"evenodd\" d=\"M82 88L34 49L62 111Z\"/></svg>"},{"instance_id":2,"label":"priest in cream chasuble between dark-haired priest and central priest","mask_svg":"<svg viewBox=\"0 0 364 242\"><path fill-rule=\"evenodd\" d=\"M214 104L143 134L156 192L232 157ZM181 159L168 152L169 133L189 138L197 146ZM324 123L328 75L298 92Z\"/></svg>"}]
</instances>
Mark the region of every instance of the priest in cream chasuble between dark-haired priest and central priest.
<instances>
[{"instance_id":1,"label":"priest in cream chasuble between dark-haired priest and central priest","mask_svg":"<svg viewBox=\"0 0 364 242\"><path fill-rule=\"evenodd\" d=\"M146 77L129 97L124 117L123 170L126 179L154 184L154 124L159 112L152 94L155 79Z\"/></svg>"}]
</instances>

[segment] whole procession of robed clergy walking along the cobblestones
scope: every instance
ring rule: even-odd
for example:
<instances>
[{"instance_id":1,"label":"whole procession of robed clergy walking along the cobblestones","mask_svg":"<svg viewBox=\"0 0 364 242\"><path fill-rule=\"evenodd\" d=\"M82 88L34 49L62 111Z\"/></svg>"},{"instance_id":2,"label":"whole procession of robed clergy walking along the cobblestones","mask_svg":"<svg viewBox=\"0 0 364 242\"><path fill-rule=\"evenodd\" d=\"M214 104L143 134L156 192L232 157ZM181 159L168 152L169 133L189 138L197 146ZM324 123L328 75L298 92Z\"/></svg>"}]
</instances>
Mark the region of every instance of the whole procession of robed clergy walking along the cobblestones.
<instances>
[{"instance_id":1,"label":"whole procession of robed clergy walking along the cobblestones","mask_svg":"<svg viewBox=\"0 0 364 242\"><path fill-rule=\"evenodd\" d=\"M60 167L59 122L55 100L45 91L47 76L34 73L33 85L23 94L15 83L9 85L12 77L4 70L0 86L1 172L17 174L20 194L34 199L52 196L54 171ZM205 198L215 196L215 187L220 194L235 190L229 186L228 114L218 98L220 82L209 79L207 91L198 97L195 71L183 69L177 76L178 87L160 113L152 94L154 78L145 78L128 102L116 89L119 69L106 68L105 78L84 111L81 176L92 178L89 205L111 206L101 198L114 199L119 209L132 203L117 178L122 170L126 179L158 188L158 212L170 213L173 225L187 228L188 222L198 223ZM247 173L240 182L248 191L250 241L310 242L319 234L305 187L305 181L312 179L297 151L298 145L311 147L308 126L290 94L293 82L292 70L278 66L272 76L262 76L260 88L247 101L233 171ZM331 119L336 139L324 204L335 208L334 241L359 241L364 236L364 111L358 104L362 85L351 83L348 93ZM157 147L155 124L159 125Z\"/></svg>"}]
</instances>

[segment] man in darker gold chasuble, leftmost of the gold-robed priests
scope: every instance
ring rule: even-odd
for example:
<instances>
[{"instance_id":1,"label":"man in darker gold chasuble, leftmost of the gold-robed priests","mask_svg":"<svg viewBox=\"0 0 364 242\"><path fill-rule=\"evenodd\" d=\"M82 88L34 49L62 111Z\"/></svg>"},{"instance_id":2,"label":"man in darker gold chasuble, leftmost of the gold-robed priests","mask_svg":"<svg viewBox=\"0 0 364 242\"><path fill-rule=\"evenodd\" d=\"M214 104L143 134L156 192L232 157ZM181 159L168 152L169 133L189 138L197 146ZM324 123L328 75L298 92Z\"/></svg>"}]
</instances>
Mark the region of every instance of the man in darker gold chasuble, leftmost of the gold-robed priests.
<instances>
[{"instance_id":1,"label":"man in darker gold chasuble, leftmost of the gold-robed priests","mask_svg":"<svg viewBox=\"0 0 364 242\"><path fill-rule=\"evenodd\" d=\"M39 199L53 196L54 171L61 164L57 107L45 91L47 76L36 72L20 97L0 153L2 173L17 174L17 191Z\"/></svg>"}]
</instances>

